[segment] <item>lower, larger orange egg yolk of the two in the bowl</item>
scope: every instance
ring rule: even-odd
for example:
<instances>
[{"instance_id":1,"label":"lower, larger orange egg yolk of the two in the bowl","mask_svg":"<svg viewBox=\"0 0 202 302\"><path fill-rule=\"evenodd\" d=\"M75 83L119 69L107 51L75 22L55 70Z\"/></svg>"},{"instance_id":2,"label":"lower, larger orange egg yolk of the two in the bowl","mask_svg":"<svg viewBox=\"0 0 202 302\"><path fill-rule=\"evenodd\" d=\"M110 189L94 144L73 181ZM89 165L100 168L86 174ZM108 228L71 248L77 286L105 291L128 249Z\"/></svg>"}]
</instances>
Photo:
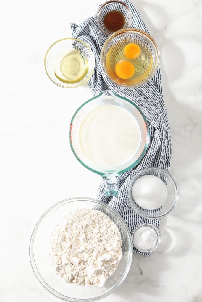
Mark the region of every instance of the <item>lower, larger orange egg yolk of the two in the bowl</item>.
<instances>
[{"instance_id":1,"label":"lower, larger orange egg yolk of the two in the bowl","mask_svg":"<svg viewBox=\"0 0 202 302\"><path fill-rule=\"evenodd\" d=\"M135 67L131 62L121 60L116 63L114 71L120 79L127 80L134 75Z\"/></svg>"}]
</instances>

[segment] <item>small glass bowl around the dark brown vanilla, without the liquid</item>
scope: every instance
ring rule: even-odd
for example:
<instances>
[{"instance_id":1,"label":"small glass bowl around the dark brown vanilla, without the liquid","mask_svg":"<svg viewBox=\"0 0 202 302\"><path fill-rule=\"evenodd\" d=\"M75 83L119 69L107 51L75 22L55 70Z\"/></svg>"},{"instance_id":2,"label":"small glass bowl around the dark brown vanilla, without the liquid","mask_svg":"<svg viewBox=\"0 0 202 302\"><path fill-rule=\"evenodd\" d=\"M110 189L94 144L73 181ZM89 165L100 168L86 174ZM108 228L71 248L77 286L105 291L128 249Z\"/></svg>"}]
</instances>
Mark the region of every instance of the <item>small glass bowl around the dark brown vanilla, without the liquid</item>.
<instances>
[{"instance_id":1,"label":"small glass bowl around the dark brown vanilla, without the liquid","mask_svg":"<svg viewBox=\"0 0 202 302\"><path fill-rule=\"evenodd\" d=\"M130 8L124 2L122 2L122 1L105 2L98 9L96 21L97 21L99 29L107 36L110 36L111 34L114 33L114 31L110 31L104 26L104 17L106 16L107 13L109 13L111 11L119 11L123 15L123 17L125 19L125 23L122 28L130 27L131 20L132 20L132 14L131 14ZM119 29L122 29L122 28L119 28Z\"/></svg>"}]
</instances>

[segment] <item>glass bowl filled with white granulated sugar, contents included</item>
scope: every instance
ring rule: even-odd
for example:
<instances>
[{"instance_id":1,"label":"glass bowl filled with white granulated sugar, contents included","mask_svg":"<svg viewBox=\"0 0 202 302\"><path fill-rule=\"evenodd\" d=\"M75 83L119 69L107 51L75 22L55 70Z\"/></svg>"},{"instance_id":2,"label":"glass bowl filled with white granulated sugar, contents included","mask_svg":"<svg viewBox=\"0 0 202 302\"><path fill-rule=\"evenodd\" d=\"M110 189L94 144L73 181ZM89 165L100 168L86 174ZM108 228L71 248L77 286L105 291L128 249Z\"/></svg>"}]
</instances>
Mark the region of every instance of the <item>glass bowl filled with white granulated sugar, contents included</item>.
<instances>
[{"instance_id":1,"label":"glass bowl filled with white granulated sugar, contents included","mask_svg":"<svg viewBox=\"0 0 202 302\"><path fill-rule=\"evenodd\" d=\"M142 217L163 218L177 205L178 185L174 177L162 169L142 169L131 178L127 198L133 210Z\"/></svg>"}]
</instances>

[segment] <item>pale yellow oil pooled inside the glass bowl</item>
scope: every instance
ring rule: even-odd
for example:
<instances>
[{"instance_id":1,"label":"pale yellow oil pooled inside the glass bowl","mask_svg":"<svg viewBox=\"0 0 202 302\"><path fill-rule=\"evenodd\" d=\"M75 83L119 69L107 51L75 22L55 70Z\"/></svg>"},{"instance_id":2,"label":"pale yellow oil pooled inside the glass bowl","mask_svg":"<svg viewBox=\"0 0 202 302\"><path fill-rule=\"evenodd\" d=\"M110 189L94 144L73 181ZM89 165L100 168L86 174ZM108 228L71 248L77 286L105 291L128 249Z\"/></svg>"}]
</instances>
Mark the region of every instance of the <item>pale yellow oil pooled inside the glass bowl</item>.
<instances>
[{"instance_id":1,"label":"pale yellow oil pooled inside the glass bowl","mask_svg":"<svg viewBox=\"0 0 202 302\"><path fill-rule=\"evenodd\" d=\"M84 79L87 73L88 60L75 49L61 60L60 70L55 72L55 76L63 83L74 84Z\"/></svg>"}]
</instances>

